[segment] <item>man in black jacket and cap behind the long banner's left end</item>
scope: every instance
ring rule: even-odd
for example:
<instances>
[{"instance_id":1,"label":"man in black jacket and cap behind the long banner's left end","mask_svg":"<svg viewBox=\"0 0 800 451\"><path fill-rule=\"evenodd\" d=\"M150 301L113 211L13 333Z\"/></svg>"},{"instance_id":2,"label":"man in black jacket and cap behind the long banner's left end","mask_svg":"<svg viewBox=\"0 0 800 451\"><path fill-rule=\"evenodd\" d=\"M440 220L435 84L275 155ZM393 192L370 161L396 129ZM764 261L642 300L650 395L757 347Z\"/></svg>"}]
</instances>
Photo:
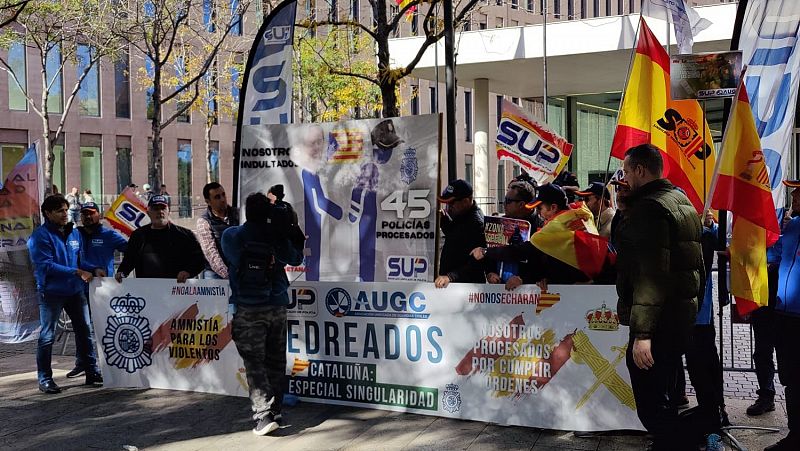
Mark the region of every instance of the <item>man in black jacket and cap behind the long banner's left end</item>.
<instances>
[{"instance_id":1,"label":"man in black jacket and cap behind the long banner's left end","mask_svg":"<svg viewBox=\"0 0 800 451\"><path fill-rule=\"evenodd\" d=\"M150 198L147 216L150 224L131 234L128 249L114 275L117 282L122 282L133 270L140 279L176 279L178 283L199 274L205 266L200 243L191 230L170 222L169 204L164 196Z\"/></svg>"}]
</instances>

